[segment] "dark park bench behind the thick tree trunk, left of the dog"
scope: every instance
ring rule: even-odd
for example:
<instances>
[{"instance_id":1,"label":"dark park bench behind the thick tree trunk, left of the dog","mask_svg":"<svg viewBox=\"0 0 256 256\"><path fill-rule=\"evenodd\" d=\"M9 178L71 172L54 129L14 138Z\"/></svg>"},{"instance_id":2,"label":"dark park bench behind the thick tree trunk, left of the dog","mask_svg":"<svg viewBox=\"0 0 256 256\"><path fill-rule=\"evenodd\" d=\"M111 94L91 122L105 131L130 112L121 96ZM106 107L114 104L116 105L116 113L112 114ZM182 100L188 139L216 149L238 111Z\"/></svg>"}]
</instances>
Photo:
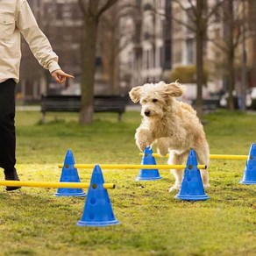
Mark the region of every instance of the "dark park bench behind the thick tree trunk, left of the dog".
<instances>
[{"instance_id":1,"label":"dark park bench behind the thick tree trunk, left of the dog","mask_svg":"<svg viewBox=\"0 0 256 256\"><path fill-rule=\"evenodd\" d=\"M116 112L120 122L127 101L126 96L94 96L94 111ZM42 122L46 122L46 112L79 112L80 106L81 96L41 96Z\"/></svg>"}]
</instances>

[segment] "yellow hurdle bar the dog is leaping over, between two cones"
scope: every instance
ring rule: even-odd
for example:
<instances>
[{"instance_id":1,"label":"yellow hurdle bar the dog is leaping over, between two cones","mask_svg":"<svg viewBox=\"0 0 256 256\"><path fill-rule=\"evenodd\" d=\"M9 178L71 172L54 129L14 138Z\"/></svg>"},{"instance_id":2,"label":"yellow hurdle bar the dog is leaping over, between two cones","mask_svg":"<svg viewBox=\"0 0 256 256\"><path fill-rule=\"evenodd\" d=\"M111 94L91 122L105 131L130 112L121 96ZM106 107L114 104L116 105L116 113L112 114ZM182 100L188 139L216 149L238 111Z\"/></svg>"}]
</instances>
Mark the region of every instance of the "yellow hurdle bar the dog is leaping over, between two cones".
<instances>
[{"instance_id":1,"label":"yellow hurdle bar the dog is leaping over, between two cones","mask_svg":"<svg viewBox=\"0 0 256 256\"><path fill-rule=\"evenodd\" d=\"M97 164L103 169L185 169L186 165L101 165ZM74 167L77 169L92 169L95 164L75 164ZM58 165L62 168L63 165ZM198 165L198 169L206 169L205 165Z\"/></svg>"}]
</instances>

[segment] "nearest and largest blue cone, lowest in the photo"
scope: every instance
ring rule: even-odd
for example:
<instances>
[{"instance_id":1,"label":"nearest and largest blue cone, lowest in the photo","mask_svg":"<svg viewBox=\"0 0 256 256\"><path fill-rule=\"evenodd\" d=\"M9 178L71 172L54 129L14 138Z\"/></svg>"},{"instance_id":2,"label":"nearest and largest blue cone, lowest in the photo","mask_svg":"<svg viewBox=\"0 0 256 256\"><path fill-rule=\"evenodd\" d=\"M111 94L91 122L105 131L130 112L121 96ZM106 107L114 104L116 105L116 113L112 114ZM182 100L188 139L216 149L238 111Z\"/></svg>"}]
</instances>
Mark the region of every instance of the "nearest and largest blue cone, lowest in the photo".
<instances>
[{"instance_id":1,"label":"nearest and largest blue cone, lowest in the photo","mask_svg":"<svg viewBox=\"0 0 256 256\"><path fill-rule=\"evenodd\" d=\"M77 222L78 226L103 227L119 224L114 216L108 191L103 188L103 183L102 170L96 165L91 176L82 219Z\"/></svg>"}]
</instances>

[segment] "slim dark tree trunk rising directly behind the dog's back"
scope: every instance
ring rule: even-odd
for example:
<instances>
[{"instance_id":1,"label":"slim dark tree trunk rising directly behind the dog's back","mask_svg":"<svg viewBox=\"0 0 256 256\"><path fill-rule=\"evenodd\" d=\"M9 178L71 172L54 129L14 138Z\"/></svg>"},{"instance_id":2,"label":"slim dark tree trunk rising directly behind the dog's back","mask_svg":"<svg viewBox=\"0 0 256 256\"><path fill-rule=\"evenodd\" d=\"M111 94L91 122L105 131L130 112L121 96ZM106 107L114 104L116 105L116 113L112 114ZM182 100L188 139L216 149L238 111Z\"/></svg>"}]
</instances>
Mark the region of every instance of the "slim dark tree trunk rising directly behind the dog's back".
<instances>
[{"instance_id":1,"label":"slim dark tree trunk rising directly behind the dog's back","mask_svg":"<svg viewBox=\"0 0 256 256\"><path fill-rule=\"evenodd\" d=\"M199 118L203 117L203 39L204 27L203 24L203 9L204 1L196 0L196 112Z\"/></svg>"}]
</instances>

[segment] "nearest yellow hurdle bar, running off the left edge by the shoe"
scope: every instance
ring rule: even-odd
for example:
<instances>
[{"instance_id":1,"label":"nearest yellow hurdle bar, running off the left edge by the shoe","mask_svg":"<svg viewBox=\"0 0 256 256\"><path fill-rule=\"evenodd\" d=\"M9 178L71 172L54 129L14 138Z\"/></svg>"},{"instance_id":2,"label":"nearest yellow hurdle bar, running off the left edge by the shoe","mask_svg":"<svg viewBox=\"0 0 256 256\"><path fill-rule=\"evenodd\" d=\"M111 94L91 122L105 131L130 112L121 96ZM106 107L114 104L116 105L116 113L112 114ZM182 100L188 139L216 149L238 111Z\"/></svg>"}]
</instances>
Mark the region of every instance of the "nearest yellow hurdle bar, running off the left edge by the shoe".
<instances>
[{"instance_id":1,"label":"nearest yellow hurdle bar, running off the left edge by the shoe","mask_svg":"<svg viewBox=\"0 0 256 256\"><path fill-rule=\"evenodd\" d=\"M89 183L81 182L44 182L44 181L0 181L0 186L38 187L38 188L89 188ZM103 188L115 188L114 183L103 183Z\"/></svg>"}]
</instances>

